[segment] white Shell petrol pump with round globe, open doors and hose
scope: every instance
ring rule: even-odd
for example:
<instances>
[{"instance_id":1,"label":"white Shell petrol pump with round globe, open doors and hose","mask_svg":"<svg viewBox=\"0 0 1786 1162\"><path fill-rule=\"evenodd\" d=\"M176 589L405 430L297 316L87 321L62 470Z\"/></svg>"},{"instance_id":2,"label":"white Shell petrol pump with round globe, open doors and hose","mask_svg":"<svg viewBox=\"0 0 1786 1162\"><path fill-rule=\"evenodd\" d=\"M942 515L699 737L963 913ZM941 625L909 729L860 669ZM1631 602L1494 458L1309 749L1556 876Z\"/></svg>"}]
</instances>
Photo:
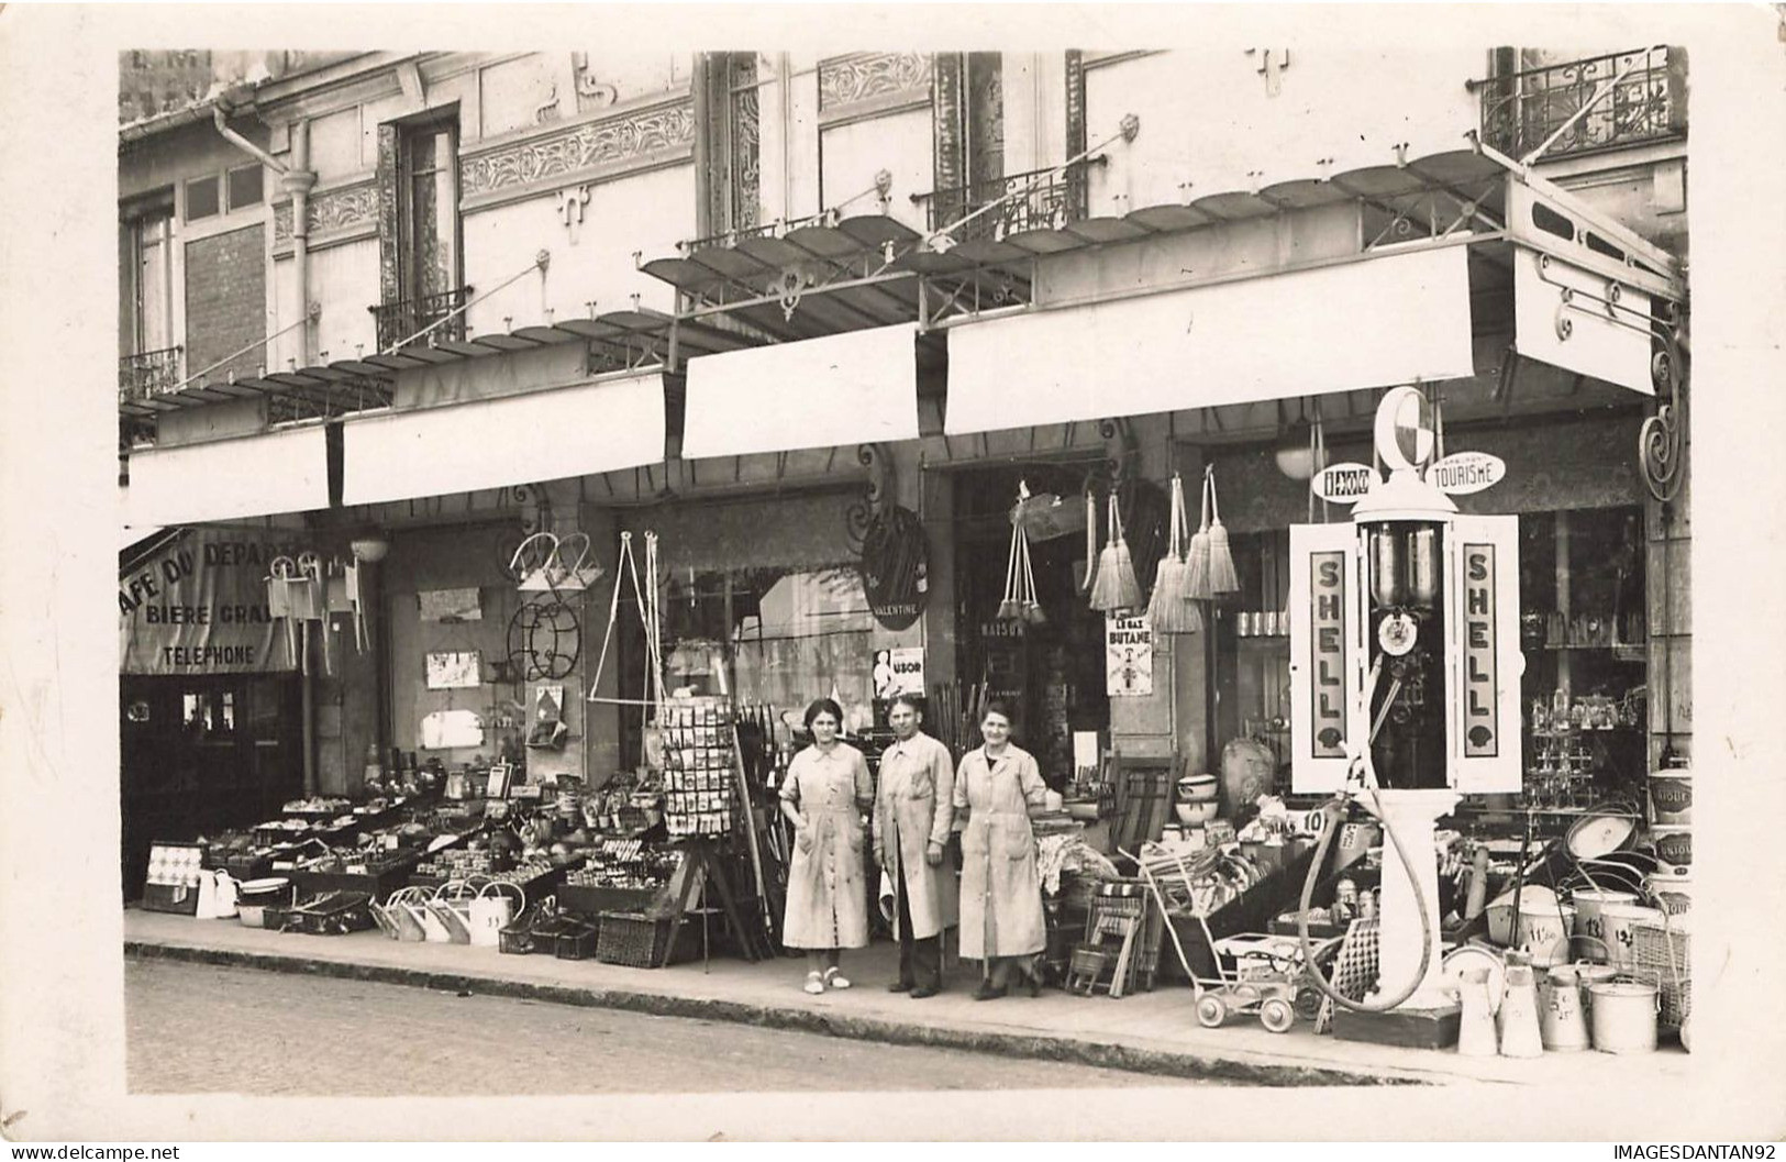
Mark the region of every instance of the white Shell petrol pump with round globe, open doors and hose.
<instances>
[{"instance_id":1,"label":"white Shell petrol pump with round globe, open doors and hose","mask_svg":"<svg viewBox=\"0 0 1786 1162\"><path fill-rule=\"evenodd\" d=\"M1356 803L1386 833L1377 987L1363 1012L1456 1010L1440 976L1434 824L1463 796L1518 792L1518 518L1457 511L1448 493L1500 479L1493 456L1434 463L1425 395L1393 388L1377 459L1332 465L1311 486L1352 520L1289 529L1291 790L1331 794L1322 849ZM1316 974L1318 976L1318 974Z\"/></svg>"}]
</instances>

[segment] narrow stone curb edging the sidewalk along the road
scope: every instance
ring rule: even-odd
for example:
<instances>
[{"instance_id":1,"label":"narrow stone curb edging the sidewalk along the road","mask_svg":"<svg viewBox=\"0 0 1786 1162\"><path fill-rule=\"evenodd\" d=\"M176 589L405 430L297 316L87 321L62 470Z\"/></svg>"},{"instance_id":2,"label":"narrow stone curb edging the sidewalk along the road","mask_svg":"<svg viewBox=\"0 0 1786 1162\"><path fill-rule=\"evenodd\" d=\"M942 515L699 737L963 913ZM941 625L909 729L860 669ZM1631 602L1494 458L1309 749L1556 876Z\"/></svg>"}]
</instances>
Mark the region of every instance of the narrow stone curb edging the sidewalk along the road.
<instances>
[{"instance_id":1,"label":"narrow stone curb edging the sidewalk along the road","mask_svg":"<svg viewBox=\"0 0 1786 1162\"><path fill-rule=\"evenodd\" d=\"M139 960L179 960L214 964L266 973L298 973L343 980L366 980L441 992L479 992L555 1005L582 1005L589 1008L620 1008L657 1017L693 1017L700 1021L730 1021L761 1028L820 1033L850 1040L877 1040L900 1046L929 1046L939 1049L968 1049L1002 1057L1075 1062L1127 1073L1166 1074L1175 1078L1207 1078L1241 1085L1431 1085L1434 1080L1361 1073L1322 1065L1259 1064L1197 1053L1172 1053L1134 1046L1082 1040L1077 1037L1048 1037L1002 1033L991 1030L938 1028L929 1024L888 1021L882 1017L839 1017L807 1008L748 1005L704 998L666 996L661 992L634 992L625 989L575 989L482 976L472 973L434 973L427 969L400 969L391 965L352 964L343 960L314 960L307 956L279 956L234 949L191 947L125 940L125 956Z\"/></svg>"}]
</instances>

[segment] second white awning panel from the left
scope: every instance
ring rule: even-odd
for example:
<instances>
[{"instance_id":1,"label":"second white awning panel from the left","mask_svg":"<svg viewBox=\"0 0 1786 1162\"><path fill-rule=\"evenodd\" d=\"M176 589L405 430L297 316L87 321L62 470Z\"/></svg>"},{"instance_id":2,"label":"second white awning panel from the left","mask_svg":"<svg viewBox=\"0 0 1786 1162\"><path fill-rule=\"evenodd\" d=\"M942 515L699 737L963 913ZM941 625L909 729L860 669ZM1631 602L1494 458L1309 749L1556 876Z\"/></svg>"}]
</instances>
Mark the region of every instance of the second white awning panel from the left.
<instances>
[{"instance_id":1,"label":"second white awning panel from the left","mask_svg":"<svg viewBox=\"0 0 1786 1162\"><path fill-rule=\"evenodd\" d=\"M379 504L664 458L661 372L348 420L341 502Z\"/></svg>"}]
</instances>

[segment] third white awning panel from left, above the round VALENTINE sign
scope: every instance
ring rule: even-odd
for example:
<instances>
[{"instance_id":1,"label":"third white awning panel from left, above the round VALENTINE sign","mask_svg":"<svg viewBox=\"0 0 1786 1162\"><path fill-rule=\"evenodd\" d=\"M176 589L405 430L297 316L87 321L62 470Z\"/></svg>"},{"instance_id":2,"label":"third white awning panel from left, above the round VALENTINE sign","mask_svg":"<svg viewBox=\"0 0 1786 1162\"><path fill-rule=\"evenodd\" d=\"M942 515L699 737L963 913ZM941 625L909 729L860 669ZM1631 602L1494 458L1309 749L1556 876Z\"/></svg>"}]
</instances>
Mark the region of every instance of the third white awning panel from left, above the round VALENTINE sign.
<instances>
[{"instance_id":1,"label":"third white awning panel from left, above the round VALENTINE sign","mask_svg":"<svg viewBox=\"0 0 1786 1162\"><path fill-rule=\"evenodd\" d=\"M918 438L916 325L688 363L684 459Z\"/></svg>"}]
</instances>

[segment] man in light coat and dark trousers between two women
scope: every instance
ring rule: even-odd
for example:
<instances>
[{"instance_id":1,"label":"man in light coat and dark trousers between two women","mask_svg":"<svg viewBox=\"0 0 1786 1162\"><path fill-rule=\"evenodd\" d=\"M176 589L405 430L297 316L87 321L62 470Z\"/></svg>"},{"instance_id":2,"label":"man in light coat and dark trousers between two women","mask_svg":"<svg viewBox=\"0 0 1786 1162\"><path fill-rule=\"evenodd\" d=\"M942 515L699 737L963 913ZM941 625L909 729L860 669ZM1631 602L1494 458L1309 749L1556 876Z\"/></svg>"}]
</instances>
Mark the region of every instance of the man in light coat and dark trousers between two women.
<instances>
[{"instance_id":1,"label":"man in light coat and dark trousers between two women","mask_svg":"<svg viewBox=\"0 0 1786 1162\"><path fill-rule=\"evenodd\" d=\"M913 999L943 989L943 930L956 922L954 874L943 847L954 824L956 765L945 747L918 728L923 710L902 694L888 708L897 740L880 754L875 790L875 863L895 894L898 980L888 989Z\"/></svg>"}]
</instances>

